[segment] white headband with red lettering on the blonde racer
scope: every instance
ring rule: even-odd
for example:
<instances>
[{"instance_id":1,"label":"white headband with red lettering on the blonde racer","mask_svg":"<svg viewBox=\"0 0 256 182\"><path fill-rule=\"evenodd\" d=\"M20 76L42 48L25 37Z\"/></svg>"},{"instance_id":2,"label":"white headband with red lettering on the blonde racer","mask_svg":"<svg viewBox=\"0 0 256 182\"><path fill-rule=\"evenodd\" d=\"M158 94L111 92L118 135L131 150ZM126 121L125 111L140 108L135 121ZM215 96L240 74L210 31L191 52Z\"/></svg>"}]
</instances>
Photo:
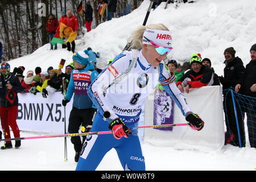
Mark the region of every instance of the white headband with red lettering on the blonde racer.
<instances>
[{"instance_id":1,"label":"white headband with red lettering on the blonde racer","mask_svg":"<svg viewBox=\"0 0 256 182\"><path fill-rule=\"evenodd\" d=\"M163 47L172 47L172 36L171 32L167 30L155 30L155 29L146 29L143 34L142 43L152 45L148 40L151 40L158 46Z\"/></svg>"}]
</instances>

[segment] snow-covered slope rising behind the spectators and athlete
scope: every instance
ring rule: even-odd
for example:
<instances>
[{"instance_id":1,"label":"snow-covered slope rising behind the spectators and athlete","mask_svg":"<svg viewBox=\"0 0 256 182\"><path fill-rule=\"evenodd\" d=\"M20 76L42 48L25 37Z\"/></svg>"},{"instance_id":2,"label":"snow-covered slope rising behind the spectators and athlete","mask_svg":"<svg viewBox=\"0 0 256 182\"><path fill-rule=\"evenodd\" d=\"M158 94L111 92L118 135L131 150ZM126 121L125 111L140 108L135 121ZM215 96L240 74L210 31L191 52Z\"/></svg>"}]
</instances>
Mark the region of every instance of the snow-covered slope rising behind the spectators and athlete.
<instances>
[{"instance_id":1,"label":"snow-covered slope rising behind the spectators and athlete","mask_svg":"<svg viewBox=\"0 0 256 182\"><path fill-rule=\"evenodd\" d=\"M96 29L76 40L76 51L91 47L101 53L98 67L105 67L106 60L118 55L127 43L131 32L141 26L146 15L149 0L145 0L132 13L101 23ZM173 51L168 55L179 63L188 61L191 53L199 52L212 60L213 68L222 75L224 49L234 47L236 55L245 64L249 63L249 49L256 43L256 3L254 0L198 0L196 3L173 4L164 10L164 3L151 11L147 24L164 23L172 32ZM49 44L31 55L11 60L11 69L23 65L26 71L36 66L43 70L49 66L57 68L61 58L66 64L72 60L72 53L60 48L49 51ZM25 72L26 72L25 71Z\"/></svg>"}]
</instances>

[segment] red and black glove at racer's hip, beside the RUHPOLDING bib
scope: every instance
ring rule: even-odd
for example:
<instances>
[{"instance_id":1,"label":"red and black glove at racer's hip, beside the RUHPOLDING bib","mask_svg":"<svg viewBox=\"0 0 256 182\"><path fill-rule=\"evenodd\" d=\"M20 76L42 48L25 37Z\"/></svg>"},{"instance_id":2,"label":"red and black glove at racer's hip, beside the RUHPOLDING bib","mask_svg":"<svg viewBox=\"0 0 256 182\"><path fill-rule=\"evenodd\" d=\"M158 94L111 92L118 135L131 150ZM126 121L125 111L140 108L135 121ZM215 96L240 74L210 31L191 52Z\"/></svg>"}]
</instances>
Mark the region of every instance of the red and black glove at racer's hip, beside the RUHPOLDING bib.
<instances>
[{"instance_id":1,"label":"red and black glove at racer's hip, beside the RUHPOLDING bib","mask_svg":"<svg viewBox=\"0 0 256 182\"><path fill-rule=\"evenodd\" d=\"M109 129L112 130L115 139L122 137L129 138L127 134L131 134L131 129L129 129L120 118L113 119L109 123Z\"/></svg>"}]
</instances>

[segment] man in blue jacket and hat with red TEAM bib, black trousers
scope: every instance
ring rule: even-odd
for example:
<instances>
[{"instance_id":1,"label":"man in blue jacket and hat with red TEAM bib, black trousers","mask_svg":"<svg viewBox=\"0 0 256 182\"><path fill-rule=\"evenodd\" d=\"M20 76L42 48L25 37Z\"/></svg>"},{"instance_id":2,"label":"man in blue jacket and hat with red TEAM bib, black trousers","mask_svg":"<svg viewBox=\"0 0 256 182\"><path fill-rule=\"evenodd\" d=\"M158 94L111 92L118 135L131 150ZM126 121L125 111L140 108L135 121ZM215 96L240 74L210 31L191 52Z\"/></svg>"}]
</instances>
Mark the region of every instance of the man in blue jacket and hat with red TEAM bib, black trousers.
<instances>
[{"instance_id":1,"label":"man in blue jacket and hat with red TEAM bib, black trousers","mask_svg":"<svg viewBox=\"0 0 256 182\"><path fill-rule=\"evenodd\" d=\"M73 54L75 69L71 73L66 98L62 101L63 106L66 106L74 94L73 108L69 115L68 133L79 133L80 126L82 132L88 132L92 126L93 114L96 111L87 94L87 88L97 78L98 72L89 62L89 56L86 53L87 51L79 51ZM85 137L83 137L84 139ZM75 162L78 162L82 148L81 139L80 137L72 137L71 142L76 151Z\"/></svg>"}]
</instances>

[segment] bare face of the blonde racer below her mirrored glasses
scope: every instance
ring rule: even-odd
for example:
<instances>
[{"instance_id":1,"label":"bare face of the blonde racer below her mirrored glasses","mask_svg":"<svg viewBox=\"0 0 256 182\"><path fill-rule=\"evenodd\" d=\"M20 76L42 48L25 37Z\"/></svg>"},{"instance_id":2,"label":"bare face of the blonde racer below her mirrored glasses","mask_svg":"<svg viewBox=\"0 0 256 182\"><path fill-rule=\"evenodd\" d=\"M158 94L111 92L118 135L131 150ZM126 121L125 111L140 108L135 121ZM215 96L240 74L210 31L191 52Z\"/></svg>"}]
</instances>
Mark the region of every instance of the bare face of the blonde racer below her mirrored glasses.
<instances>
[{"instance_id":1,"label":"bare face of the blonde racer below her mirrored glasses","mask_svg":"<svg viewBox=\"0 0 256 182\"><path fill-rule=\"evenodd\" d=\"M158 52L156 52L155 46L149 44L143 44L142 54L147 59L148 63L153 67L158 67L159 63L166 59L167 56L167 53L160 55Z\"/></svg>"}]
</instances>

